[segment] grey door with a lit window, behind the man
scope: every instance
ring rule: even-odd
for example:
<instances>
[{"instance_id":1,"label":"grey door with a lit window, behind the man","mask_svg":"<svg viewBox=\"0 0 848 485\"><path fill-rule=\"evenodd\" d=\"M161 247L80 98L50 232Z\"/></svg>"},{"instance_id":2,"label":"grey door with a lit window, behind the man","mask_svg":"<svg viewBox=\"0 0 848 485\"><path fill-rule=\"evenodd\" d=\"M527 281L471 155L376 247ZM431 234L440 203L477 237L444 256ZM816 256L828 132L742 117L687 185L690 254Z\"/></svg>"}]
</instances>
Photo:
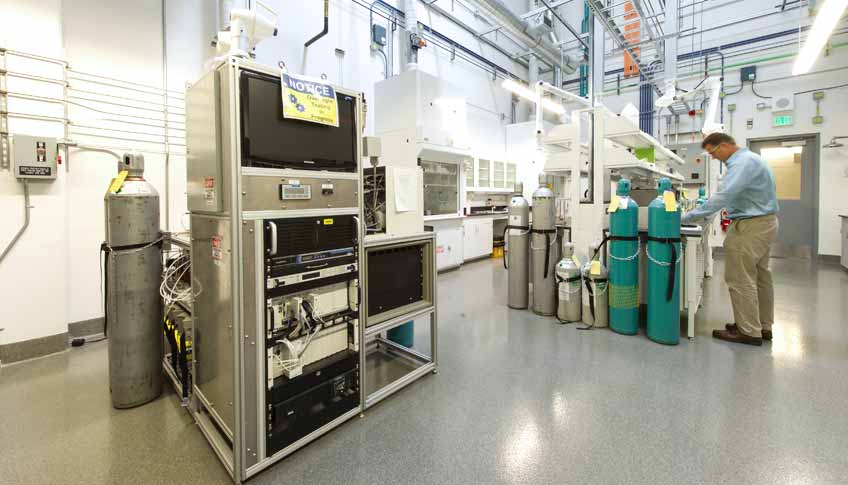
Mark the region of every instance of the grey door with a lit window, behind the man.
<instances>
[{"instance_id":1,"label":"grey door with a lit window, behind the man","mask_svg":"<svg viewBox=\"0 0 848 485\"><path fill-rule=\"evenodd\" d=\"M777 186L778 258L810 259L818 251L818 139L814 135L749 140L771 166Z\"/></svg>"}]
</instances>

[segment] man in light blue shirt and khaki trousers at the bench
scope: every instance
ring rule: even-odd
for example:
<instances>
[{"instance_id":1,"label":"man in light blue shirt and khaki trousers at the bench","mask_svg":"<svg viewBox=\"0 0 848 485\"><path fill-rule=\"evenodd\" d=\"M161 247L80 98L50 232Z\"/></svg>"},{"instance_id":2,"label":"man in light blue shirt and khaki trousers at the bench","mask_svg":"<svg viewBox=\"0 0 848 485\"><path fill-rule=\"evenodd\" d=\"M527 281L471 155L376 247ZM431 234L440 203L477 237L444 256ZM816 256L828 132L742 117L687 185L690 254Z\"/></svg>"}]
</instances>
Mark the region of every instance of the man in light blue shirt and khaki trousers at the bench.
<instances>
[{"instance_id":1,"label":"man in light blue shirt and khaki trousers at the bench","mask_svg":"<svg viewBox=\"0 0 848 485\"><path fill-rule=\"evenodd\" d=\"M777 239L777 193L768 163L724 133L704 138L701 147L727 166L721 189L702 206L683 215L691 224L722 208L731 219L724 239L724 280L730 290L736 323L713 330L713 337L748 345L771 340L774 285L769 270L770 245Z\"/></svg>"}]
</instances>

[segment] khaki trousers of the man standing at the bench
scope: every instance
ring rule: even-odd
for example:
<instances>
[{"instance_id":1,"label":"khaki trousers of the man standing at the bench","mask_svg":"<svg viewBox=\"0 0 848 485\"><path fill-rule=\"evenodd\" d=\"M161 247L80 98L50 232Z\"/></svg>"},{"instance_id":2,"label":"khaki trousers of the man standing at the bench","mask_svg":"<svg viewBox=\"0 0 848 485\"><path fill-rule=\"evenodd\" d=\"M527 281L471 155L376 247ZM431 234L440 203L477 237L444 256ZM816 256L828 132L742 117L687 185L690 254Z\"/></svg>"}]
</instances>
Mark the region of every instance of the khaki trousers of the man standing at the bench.
<instances>
[{"instance_id":1,"label":"khaki trousers of the man standing at the bench","mask_svg":"<svg viewBox=\"0 0 848 485\"><path fill-rule=\"evenodd\" d=\"M769 270L771 244L777 239L777 216L733 221L724 239L724 281L730 290L739 331L762 337L774 323L774 282Z\"/></svg>"}]
</instances>

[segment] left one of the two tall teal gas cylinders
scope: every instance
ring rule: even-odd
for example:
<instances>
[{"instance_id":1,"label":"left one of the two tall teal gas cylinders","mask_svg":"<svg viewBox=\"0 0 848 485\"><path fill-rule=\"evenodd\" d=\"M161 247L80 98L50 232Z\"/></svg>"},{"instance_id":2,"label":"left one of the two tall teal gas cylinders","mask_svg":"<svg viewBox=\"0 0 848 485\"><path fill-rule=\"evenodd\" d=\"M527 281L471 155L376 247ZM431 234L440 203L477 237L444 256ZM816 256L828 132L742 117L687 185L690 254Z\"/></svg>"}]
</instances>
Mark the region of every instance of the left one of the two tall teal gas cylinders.
<instances>
[{"instance_id":1,"label":"left one of the two tall teal gas cylinders","mask_svg":"<svg viewBox=\"0 0 848 485\"><path fill-rule=\"evenodd\" d=\"M618 208L610 212L609 233L609 326L635 335L639 332L639 206L630 198L630 180L618 181L615 197Z\"/></svg>"}]
</instances>

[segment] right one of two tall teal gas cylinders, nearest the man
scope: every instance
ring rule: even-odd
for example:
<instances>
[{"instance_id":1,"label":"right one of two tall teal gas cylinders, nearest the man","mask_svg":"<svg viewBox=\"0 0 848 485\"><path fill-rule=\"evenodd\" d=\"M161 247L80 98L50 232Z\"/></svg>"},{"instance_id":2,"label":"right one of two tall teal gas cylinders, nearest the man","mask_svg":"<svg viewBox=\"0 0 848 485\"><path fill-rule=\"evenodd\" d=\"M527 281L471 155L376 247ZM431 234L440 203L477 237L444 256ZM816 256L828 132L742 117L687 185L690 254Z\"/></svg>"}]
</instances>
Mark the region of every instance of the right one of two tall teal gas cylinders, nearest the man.
<instances>
[{"instance_id":1,"label":"right one of two tall teal gas cylinders, nearest the man","mask_svg":"<svg viewBox=\"0 0 848 485\"><path fill-rule=\"evenodd\" d=\"M671 181L660 179L659 196L648 206L648 338L675 345L680 340L680 207L666 207L673 198Z\"/></svg>"}]
</instances>

